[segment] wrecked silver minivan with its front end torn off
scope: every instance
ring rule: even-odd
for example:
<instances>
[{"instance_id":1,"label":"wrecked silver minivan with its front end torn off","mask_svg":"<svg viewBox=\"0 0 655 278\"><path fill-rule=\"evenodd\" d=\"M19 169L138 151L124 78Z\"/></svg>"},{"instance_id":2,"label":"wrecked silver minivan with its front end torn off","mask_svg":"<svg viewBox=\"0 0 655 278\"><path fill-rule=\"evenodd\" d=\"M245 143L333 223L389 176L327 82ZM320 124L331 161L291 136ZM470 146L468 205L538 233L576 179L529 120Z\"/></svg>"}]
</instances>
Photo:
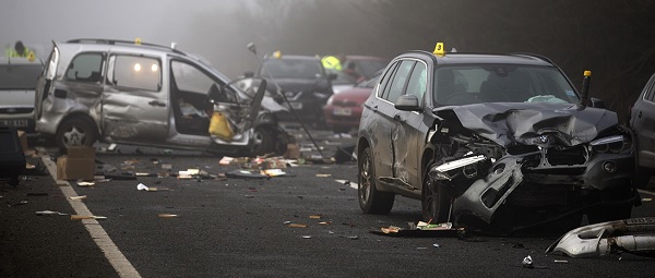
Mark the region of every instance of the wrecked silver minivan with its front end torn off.
<instances>
[{"instance_id":1,"label":"wrecked silver minivan with its front end torn off","mask_svg":"<svg viewBox=\"0 0 655 278\"><path fill-rule=\"evenodd\" d=\"M36 88L36 131L53 136L61 149L99 140L223 155L283 154L289 135L266 107L276 102L266 101L265 85L242 87L264 81L245 81L230 82L174 47L53 43ZM210 132L211 123L219 132Z\"/></svg>"}]
</instances>

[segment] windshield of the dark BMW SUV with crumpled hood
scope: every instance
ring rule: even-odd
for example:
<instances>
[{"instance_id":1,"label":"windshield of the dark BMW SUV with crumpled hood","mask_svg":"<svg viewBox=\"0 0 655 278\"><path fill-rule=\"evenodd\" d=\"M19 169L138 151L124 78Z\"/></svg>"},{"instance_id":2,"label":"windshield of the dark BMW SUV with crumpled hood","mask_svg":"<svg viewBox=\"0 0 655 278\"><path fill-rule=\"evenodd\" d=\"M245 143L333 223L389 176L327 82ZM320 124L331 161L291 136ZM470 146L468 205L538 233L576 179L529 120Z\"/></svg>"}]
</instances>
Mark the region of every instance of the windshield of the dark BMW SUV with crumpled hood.
<instances>
[{"instance_id":1,"label":"windshield of the dark BMW SUV with crumpled hood","mask_svg":"<svg viewBox=\"0 0 655 278\"><path fill-rule=\"evenodd\" d=\"M571 84L556 68L476 64L434 72L432 97L439 105L479 102L577 102Z\"/></svg>"}]
</instances>

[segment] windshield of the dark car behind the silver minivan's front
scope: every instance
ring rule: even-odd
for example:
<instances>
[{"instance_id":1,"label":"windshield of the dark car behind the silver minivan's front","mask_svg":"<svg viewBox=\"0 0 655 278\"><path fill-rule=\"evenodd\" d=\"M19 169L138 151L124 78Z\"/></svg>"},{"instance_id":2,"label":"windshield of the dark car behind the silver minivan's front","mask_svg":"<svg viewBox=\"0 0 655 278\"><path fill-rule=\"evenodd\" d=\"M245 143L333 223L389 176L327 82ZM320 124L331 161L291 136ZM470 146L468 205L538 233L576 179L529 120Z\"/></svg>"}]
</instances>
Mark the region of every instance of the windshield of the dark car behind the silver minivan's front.
<instances>
[{"instance_id":1,"label":"windshield of the dark car behind the silver minivan's front","mask_svg":"<svg viewBox=\"0 0 655 278\"><path fill-rule=\"evenodd\" d=\"M319 78L323 75L320 61L311 59L269 59L263 67L263 76Z\"/></svg>"}]
</instances>

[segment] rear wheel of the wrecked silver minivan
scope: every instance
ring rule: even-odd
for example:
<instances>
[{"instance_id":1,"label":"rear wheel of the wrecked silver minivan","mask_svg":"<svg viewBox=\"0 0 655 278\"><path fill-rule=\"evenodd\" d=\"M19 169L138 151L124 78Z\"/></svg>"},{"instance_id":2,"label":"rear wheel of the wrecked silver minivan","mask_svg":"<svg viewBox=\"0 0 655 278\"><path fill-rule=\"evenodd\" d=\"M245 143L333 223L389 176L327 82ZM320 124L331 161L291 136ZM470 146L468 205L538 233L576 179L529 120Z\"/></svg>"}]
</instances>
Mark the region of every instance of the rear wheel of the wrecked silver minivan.
<instances>
[{"instance_id":1,"label":"rear wheel of the wrecked silver minivan","mask_svg":"<svg viewBox=\"0 0 655 278\"><path fill-rule=\"evenodd\" d=\"M69 146L93 146L97 140L94 126L91 120L84 118L66 120L57 129L57 146L61 150L68 149Z\"/></svg>"}]
</instances>

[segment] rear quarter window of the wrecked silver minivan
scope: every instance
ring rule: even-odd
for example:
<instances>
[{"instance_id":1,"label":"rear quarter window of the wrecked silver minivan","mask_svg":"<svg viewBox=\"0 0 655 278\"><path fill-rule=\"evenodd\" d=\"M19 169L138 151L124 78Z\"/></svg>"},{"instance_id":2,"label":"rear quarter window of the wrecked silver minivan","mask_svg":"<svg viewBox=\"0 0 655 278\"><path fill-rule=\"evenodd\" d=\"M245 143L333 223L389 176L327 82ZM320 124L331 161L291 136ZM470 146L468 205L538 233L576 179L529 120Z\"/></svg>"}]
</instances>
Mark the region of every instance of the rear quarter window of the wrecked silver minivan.
<instances>
[{"instance_id":1,"label":"rear quarter window of the wrecked silver minivan","mask_svg":"<svg viewBox=\"0 0 655 278\"><path fill-rule=\"evenodd\" d=\"M100 82L104 60L103 53L81 53L69 64L66 78L76 82Z\"/></svg>"}]
</instances>

